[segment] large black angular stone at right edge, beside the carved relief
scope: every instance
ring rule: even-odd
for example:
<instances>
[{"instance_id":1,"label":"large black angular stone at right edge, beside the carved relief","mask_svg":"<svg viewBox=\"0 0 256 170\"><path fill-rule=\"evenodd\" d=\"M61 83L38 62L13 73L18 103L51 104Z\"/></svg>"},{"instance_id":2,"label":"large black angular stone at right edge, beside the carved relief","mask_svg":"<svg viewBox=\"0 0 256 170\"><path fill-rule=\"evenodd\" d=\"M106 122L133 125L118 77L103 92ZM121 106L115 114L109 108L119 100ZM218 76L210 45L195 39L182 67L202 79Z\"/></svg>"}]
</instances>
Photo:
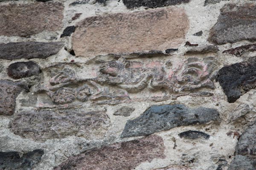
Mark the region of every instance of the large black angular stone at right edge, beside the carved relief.
<instances>
[{"instance_id":1,"label":"large black angular stone at right edge, beside the carved relief","mask_svg":"<svg viewBox=\"0 0 256 170\"><path fill-rule=\"evenodd\" d=\"M256 62L239 62L224 66L218 71L218 82L230 103L255 87Z\"/></svg>"}]
</instances>

